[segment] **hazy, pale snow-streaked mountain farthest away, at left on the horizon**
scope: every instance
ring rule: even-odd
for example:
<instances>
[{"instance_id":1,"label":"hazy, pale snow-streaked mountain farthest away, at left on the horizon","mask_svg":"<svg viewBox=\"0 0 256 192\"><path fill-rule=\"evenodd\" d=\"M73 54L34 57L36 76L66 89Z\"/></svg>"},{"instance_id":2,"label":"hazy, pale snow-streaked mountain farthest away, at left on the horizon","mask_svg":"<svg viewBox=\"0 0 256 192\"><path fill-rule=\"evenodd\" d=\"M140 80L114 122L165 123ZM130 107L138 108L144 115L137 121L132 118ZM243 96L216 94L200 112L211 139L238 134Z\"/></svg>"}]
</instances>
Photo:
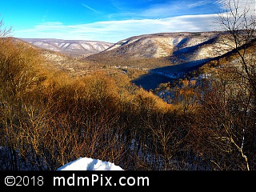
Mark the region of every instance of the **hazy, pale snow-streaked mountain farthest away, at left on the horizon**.
<instances>
[{"instance_id":1,"label":"hazy, pale snow-streaked mountain farthest away, at left on the horizon","mask_svg":"<svg viewBox=\"0 0 256 192\"><path fill-rule=\"evenodd\" d=\"M34 46L46 50L54 50L62 54L75 57L86 57L90 54L98 54L106 50L113 43L99 41L82 40L62 40L55 38L21 38L25 42L30 42Z\"/></svg>"}]
</instances>

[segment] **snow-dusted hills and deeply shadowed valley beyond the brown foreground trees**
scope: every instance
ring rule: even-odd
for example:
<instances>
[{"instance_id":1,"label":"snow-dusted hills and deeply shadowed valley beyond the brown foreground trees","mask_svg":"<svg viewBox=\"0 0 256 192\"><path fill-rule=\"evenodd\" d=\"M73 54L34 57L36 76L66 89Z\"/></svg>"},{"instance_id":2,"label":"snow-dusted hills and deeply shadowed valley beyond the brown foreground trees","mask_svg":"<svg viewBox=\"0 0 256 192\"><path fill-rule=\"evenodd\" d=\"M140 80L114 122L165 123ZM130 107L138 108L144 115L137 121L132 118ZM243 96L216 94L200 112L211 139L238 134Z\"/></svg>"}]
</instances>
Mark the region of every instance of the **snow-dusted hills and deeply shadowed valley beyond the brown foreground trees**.
<instances>
[{"instance_id":1,"label":"snow-dusted hills and deeply shadowed valley beyond the brown foreground trees","mask_svg":"<svg viewBox=\"0 0 256 192\"><path fill-rule=\"evenodd\" d=\"M107 69L126 73L145 90L183 78L230 53L222 31L142 34L120 42L22 39L43 50L46 60L73 74Z\"/></svg>"}]
</instances>

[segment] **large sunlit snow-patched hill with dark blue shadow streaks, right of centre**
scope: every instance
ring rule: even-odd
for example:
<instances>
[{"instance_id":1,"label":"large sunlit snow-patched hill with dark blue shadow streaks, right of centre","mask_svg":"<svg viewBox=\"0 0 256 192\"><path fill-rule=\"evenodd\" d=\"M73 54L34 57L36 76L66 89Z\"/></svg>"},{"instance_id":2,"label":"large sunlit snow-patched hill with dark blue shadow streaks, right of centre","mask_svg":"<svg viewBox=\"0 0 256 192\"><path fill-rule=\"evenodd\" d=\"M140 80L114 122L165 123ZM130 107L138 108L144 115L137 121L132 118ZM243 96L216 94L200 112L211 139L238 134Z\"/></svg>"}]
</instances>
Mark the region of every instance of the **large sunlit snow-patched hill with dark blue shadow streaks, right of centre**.
<instances>
[{"instance_id":1,"label":"large sunlit snow-patched hill with dark blue shadow streaks, right of centre","mask_svg":"<svg viewBox=\"0 0 256 192\"><path fill-rule=\"evenodd\" d=\"M94 62L105 63L109 59L108 64L113 62L113 58L124 58L126 61L150 58L154 60L158 58L160 61L165 58L169 61L156 66L154 64L150 66L148 62L145 66L140 65L140 67L154 69L159 66L195 62L226 54L230 51L230 47L222 43L222 35L219 31L144 34L126 38L101 53L92 54L87 58ZM123 65L126 65L126 62Z\"/></svg>"}]
</instances>

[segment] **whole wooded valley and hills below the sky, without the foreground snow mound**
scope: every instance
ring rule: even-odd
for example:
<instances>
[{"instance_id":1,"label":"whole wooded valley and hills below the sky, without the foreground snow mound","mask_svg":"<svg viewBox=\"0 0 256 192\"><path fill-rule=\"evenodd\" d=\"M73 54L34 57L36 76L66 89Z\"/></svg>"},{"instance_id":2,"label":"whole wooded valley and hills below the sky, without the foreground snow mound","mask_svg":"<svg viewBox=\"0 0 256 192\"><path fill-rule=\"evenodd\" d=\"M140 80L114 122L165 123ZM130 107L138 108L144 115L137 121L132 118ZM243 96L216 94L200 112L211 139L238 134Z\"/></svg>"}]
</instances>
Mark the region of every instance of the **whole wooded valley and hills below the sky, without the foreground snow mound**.
<instances>
[{"instance_id":1,"label":"whole wooded valley and hills below the sky, without the foreground snow mound","mask_svg":"<svg viewBox=\"0 0 256 192\"><path fill-rule=\"evenodd\" d=\"M85 156L125 170L254 170L255 39L247 39L147 34L87 55L80 42L56 40L54 50L53 39L2 38L1 133L11 140L1 140L1 169L56 170Z\"/></svg>"}]
</instances>

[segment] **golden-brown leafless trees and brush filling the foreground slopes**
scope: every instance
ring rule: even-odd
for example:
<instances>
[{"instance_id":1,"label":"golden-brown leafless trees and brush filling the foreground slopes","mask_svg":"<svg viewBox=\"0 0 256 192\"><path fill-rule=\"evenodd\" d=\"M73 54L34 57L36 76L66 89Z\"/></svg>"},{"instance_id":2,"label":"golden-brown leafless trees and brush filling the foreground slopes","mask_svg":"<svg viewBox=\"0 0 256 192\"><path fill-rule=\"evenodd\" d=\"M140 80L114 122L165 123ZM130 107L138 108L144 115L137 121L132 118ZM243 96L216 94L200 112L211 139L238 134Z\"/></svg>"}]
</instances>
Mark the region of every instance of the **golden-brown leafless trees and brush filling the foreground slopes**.
<instances>
[{"instance_id":1,"label":"golden-brown leafless trees and brush filling the foreground slopes","mask_svg":"<svg viewBox=\"0 0 256 192\"><path fill-rule=\"evenodd\" d=\"M227 42L241 38L228 31ZM1 38L0 170L57 170L79 157L124 170L255 170L255 41L246 45L153 92L123 69L70 75Z\"/></svg>"}]
</instances>

